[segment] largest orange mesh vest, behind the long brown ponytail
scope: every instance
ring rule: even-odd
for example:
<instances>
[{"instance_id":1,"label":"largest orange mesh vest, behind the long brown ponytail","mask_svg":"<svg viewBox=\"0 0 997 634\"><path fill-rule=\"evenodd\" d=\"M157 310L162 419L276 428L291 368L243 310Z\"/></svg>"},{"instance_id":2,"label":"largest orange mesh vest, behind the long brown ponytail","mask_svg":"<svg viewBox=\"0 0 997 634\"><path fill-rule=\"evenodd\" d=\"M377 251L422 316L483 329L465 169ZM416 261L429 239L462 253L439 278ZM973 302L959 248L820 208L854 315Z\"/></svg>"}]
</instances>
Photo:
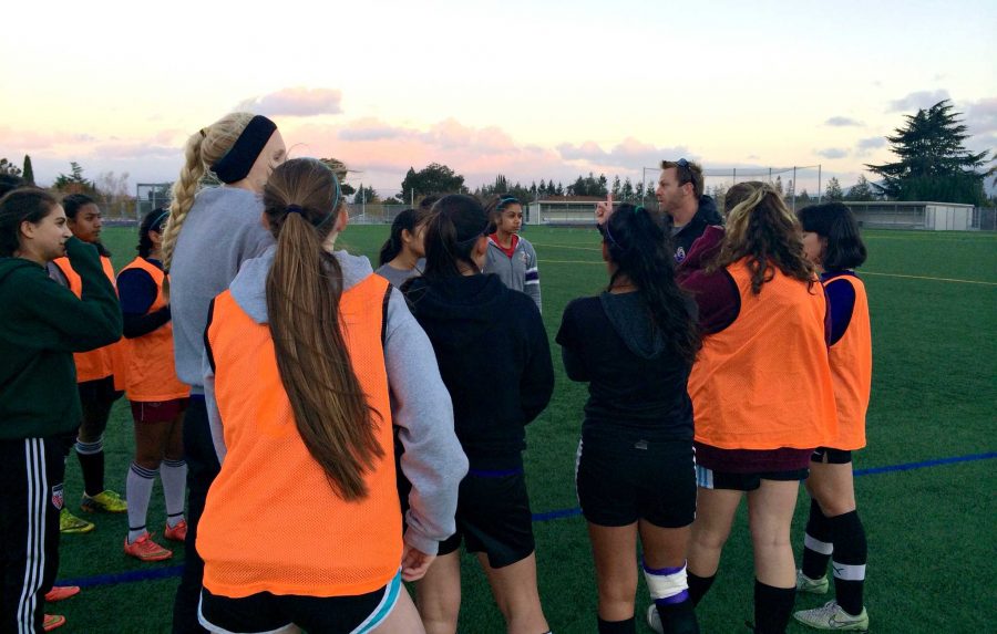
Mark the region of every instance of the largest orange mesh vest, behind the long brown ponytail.
<instances>
[{"instance_id":1,"label":"largest orange mesh vest, behind the long brown ponytail","mask_svg":"<svg viewBox=\"0 0 997 634\"><path fill-rule=\"evenodd\" d=\"M298 434L268 325L253 321L229 291L215 299L207 340L228 453L197 528L210 592L354 595L383 588L398 572L402 524L381 343L387 290L388 281L371 274L340 301L343 339L384 451L367 474L368 497L349 502Z\"/></svg>"}]
</instances>

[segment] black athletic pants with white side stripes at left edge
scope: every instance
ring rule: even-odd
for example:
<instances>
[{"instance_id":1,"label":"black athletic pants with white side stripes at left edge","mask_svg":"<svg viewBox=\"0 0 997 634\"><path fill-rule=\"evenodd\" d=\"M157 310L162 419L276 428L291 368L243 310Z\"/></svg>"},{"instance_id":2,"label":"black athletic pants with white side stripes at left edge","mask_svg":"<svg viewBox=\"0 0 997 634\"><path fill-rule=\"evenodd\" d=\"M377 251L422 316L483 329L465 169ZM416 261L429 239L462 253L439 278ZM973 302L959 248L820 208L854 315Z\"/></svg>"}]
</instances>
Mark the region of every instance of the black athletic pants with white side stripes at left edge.
<instances>
[{"instance_id":1,"label":"black athletic pants with white side stripes at left edge","mask_svg":"<svg viewBox=\"0 0 997 634\"><path fill-rule=\"evenodd\" d=\"M62 441L0 440L0 633L42 632L45 593L59 570Z\"/></svg>"}]
</instances>

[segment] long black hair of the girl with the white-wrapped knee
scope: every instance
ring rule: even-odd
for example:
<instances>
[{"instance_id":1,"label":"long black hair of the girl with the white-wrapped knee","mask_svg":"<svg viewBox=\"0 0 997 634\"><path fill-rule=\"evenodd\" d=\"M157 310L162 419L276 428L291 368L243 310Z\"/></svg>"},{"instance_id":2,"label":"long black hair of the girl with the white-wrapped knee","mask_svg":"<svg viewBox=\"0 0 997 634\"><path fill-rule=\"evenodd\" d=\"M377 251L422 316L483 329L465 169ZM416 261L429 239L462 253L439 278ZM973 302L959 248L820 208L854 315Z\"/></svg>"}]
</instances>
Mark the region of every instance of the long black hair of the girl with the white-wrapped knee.
<instances>
[{"instance_id":1,"label":"long black hair of the girl with the white-wrapped knee","mask_svg":"<svg viewBox=\"0 0 997 634\"><path fill-rule=\"evenodd\" d=\"M689 311L692 300L675 281L675 257L661 225L644 207L624 204L602 231L617 267L609 288L626 276L637 287L667 350L691 365L700 347L699 330Z\"/></svg>"}]
</instances>

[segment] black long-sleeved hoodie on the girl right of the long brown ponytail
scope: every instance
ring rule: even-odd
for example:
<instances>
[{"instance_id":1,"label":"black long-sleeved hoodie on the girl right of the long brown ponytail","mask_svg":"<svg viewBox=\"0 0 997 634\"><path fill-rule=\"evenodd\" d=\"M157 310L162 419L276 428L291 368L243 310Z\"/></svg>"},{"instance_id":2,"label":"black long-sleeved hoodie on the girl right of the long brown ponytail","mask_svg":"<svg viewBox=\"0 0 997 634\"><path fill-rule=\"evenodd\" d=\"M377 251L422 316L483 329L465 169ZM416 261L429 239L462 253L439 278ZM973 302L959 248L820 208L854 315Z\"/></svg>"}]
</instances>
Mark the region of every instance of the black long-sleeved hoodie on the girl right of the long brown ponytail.
<instances>
[{"instance_id":1,"label":"black long-sleeved hoodie on the girl right of the long brown ponytail","mask_svg":"<svg viewBox=\"0 0 997 634\"><path fill-rule=\"evenodd\" d=\"M525 426L554 391L536 304L492 274L417 278L407 293L453 398L454 427L471 468L522 468Z\"/></svg>"}]
</instances>

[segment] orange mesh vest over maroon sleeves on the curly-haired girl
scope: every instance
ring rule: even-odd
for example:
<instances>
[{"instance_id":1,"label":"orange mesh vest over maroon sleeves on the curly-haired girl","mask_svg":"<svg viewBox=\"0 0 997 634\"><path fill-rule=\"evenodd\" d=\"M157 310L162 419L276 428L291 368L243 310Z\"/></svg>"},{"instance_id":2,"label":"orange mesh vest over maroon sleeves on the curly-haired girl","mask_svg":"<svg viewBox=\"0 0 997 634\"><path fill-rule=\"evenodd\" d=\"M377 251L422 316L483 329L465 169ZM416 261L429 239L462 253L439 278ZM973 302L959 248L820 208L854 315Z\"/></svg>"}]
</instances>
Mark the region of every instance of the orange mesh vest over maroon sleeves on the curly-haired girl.
<instances>
[{"instance_id":1,"label":"orange mesh vest over maroon sleeves on the curly-haired girl","mask_svg":"<svg viewBox=\"0 0 997 634\"><path fill-rule=\"evenodd\" d=\"M824 340L826 300L775 269L751 292L746 260L729 266L741 309L726 330L703 337L689 376L696 440L722 449L810 449L836 430Z\"/></svg>"}]
</instances>

